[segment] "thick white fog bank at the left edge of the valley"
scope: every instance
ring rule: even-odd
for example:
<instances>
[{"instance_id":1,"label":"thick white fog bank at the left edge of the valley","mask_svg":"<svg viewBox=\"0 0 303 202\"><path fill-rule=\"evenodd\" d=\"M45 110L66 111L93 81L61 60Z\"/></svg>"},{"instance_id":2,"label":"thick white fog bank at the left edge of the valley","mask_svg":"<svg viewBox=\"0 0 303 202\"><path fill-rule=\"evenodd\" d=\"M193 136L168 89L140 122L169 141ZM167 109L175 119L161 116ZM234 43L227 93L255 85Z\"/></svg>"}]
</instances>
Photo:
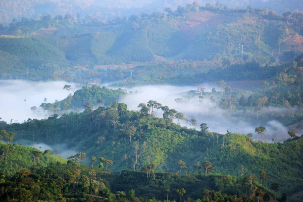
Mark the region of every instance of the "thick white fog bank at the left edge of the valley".
<instances>
[{"instance_id":1,"label":"thick white fog bank at the left edge of the valley","mask_svg":"<svg viewBox=\"0 0 303 202\"><path fill-rule=\"evenodd\" d=\"M47 103L54 103L56 99L62 100L67 97L64 85L75 84L66 81L35 82L24 80L0 80L0 117L3 121L23 122L28 118L45 118L45 112L39 108L44 98ZM24 101L26 100L26 101ZM30 108L36 106L37 111L33 113ZM40 111L39 111L40 110ZM46 115L46 117L48 117Z\"/></svg>"}]
</instances>

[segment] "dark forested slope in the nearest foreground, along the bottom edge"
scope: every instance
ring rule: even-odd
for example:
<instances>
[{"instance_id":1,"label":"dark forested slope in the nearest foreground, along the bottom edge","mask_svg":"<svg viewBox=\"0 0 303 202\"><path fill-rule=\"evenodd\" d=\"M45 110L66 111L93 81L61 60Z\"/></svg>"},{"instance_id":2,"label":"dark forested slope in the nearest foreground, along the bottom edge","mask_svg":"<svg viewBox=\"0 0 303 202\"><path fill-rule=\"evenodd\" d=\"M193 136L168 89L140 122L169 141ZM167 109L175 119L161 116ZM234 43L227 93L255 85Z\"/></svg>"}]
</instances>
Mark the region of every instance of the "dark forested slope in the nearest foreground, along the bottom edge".
<instances>
[{"instance_id":1,"label":"dark forested slope in the nearest foreground, along the bottom edge","mask_svg":"<svg viewBox=\"0 0 303 202\"><path fill-rule=\"evenodd\" d=\"M211 172L208 176L165 174L155 172L155 166L141 172L125 170L114 174L104 168L102 158L98 158L98 166L94 166L96 158L92 158L91 166L82 165L81 161L86 158L84 153L66 161L53 156L50 150L42 154L38 149L11 143L1 143L0 148L3 152L0 156L2 201L147 202L174 201L180 196L190 201L253 201L258 198L268 201L274 197L285 201L286 198L284 193L280 197L276 183L272 183L272 190L268 189L260 185L254 175L236 178ZM148 180L146 173L150 176Z\"/></svg>"}]
</instances>

